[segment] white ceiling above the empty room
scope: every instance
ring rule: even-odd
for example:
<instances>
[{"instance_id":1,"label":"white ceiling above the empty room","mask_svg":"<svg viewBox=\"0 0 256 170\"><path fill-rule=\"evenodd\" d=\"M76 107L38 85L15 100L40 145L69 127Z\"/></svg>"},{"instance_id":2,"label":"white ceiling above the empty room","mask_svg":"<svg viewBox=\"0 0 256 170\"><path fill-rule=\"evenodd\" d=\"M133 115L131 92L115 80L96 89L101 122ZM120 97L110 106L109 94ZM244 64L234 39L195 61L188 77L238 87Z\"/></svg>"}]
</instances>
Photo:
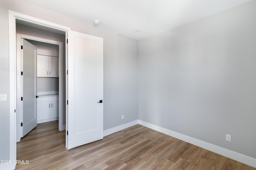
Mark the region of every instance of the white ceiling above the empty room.
<instances>
[{"instance_id":1,"label":"white ceiling above the empty room","mask_svg":"<svg viewBox=\"0 0 256 170\"><path fill-rule=\"evenodd\" d=\"M251 0L25 0L133 39L185 25ZM140 33L136 33L140 30Z\"/></svg>"}]
</instances>

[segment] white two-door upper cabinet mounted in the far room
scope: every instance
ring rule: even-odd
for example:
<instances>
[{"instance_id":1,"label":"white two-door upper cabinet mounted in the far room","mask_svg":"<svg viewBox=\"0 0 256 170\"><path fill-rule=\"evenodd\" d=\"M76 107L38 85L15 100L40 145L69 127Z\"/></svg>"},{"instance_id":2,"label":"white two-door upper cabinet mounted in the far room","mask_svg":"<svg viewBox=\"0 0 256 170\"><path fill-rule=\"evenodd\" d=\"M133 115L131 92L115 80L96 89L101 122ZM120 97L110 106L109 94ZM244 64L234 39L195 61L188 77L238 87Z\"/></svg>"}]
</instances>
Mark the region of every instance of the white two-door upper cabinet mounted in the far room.
<instances>
[{"instance_id":1,"label":"white two-door upper cabinet mounted in the far room","mask_svg":"<svg viewBox=\"0 0 256 170\"><path fill-rule=\"evenodd\" d=\"M37 55L37 76L58 77L59 58L46 55Z\"/></svg>"}]
</instances>

